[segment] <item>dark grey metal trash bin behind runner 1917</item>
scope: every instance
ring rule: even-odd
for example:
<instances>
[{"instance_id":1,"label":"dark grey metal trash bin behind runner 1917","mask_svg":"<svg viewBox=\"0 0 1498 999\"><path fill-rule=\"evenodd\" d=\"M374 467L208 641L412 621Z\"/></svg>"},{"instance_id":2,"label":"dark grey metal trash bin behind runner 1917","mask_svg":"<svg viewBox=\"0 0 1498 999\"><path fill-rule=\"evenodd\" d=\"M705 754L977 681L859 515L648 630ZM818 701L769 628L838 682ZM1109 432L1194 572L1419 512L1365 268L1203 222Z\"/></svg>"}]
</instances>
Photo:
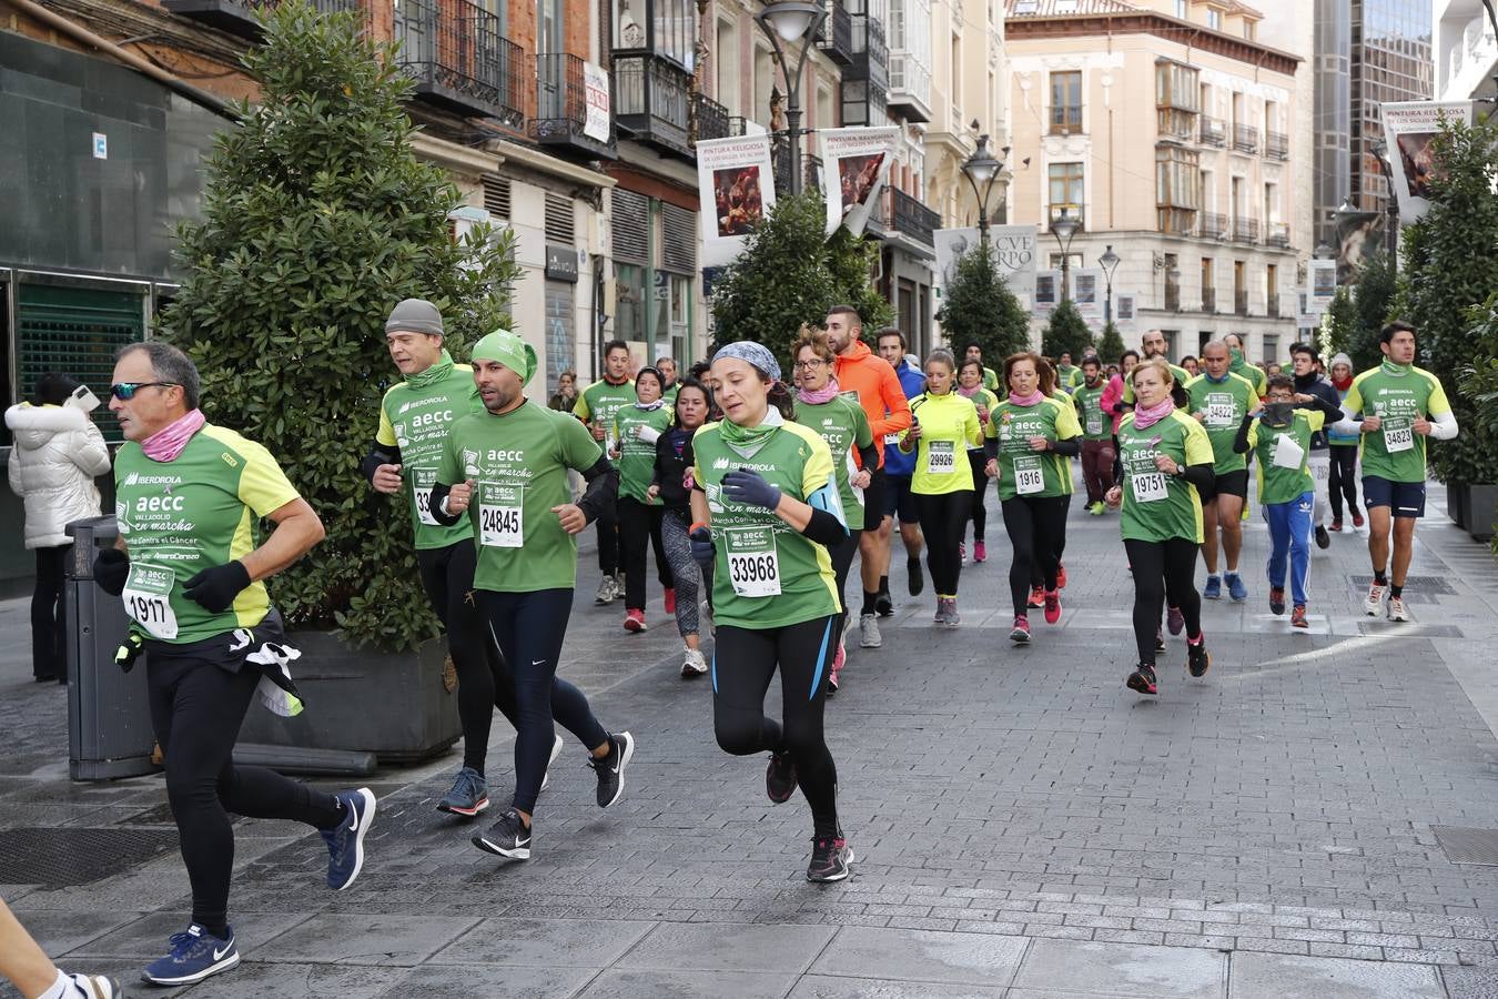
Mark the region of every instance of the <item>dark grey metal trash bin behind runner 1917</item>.
<instances>
[{"instance_id":1,"label":"dark grey metal trash bin behind runner 1917","mask_svg":"<svg viewBox=\"0 0 1498 999\"><path fill-rule=\"evenodd\" d=\"M67 562L67 773L73 780L138 777L156 770L145 659L124 672L114 653L124 640L124 602L93 581L100 548L118 536L114 517L75 520Z\"/></svg>"}]
</instances>

